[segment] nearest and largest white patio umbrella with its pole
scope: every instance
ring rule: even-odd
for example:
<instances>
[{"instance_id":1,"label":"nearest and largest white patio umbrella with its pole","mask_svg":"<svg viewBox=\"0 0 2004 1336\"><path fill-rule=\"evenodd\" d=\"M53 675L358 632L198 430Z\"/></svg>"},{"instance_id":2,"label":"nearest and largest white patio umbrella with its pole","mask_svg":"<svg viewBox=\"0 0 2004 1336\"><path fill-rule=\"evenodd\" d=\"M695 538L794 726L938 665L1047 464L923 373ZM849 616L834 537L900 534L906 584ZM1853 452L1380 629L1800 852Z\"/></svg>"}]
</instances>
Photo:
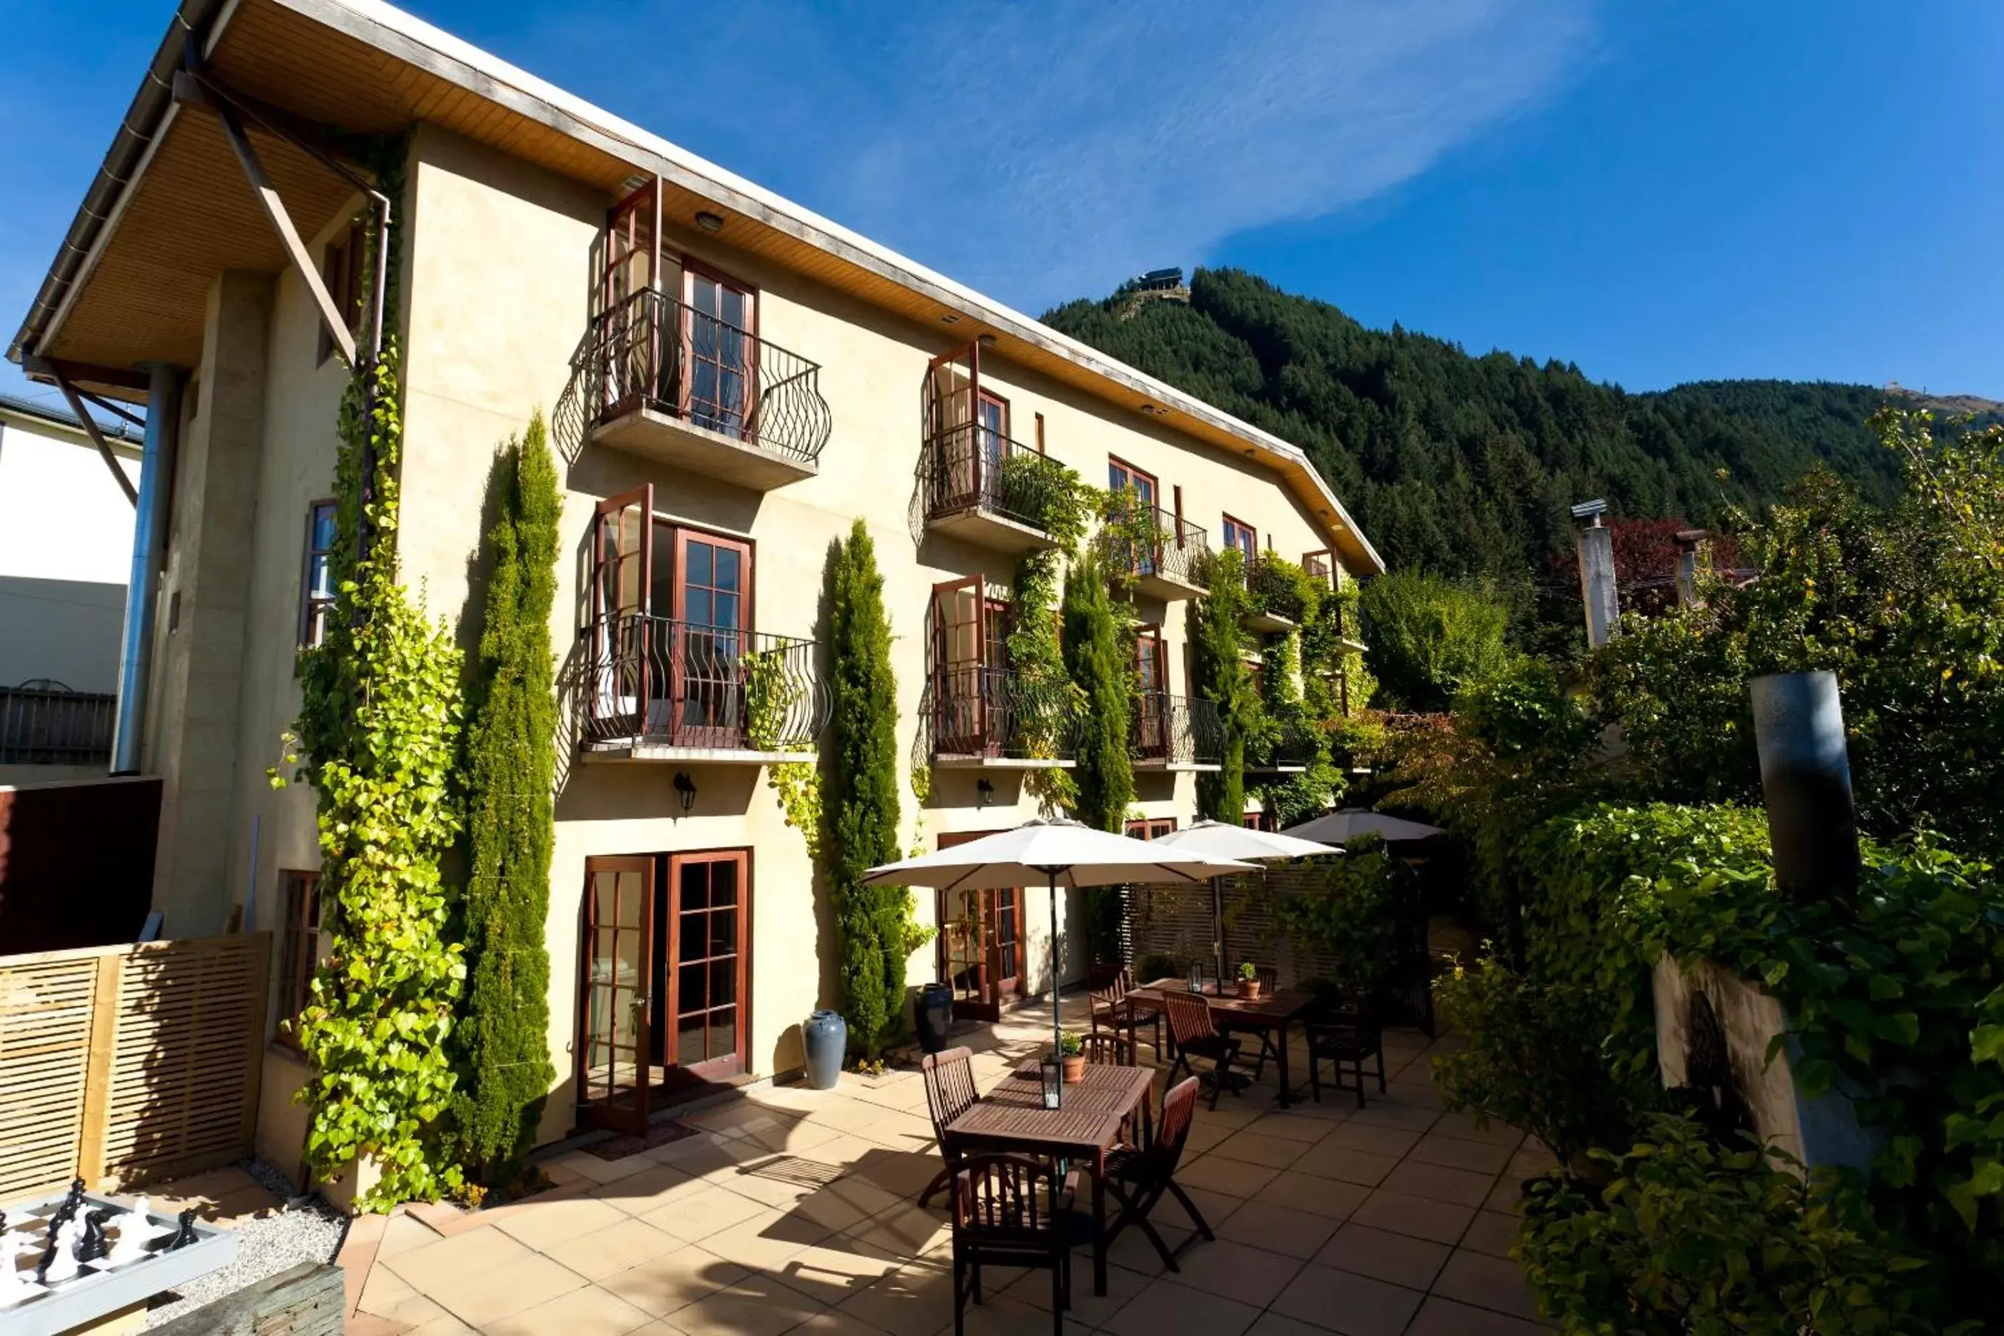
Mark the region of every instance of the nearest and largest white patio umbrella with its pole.
<instances>
[{"instance_id":1,"label":"nearest and largest white patio umbrella with its pole","mask_svg":"<svg viewBox=\"0 0 2004 1336\"><path fill-rule=\"evenodd\" d=\"M952 849L908 857L864 873L868 885L928 885L936 889L1050 887L1050 1030L1058 1046L1058 887L1126 885L1130 881L1202 881L1252 863L1168 849L1160 841L1096 831L1078 821L1026 821L1012 831L970 839Z\"/></svg>"}]
</instances>

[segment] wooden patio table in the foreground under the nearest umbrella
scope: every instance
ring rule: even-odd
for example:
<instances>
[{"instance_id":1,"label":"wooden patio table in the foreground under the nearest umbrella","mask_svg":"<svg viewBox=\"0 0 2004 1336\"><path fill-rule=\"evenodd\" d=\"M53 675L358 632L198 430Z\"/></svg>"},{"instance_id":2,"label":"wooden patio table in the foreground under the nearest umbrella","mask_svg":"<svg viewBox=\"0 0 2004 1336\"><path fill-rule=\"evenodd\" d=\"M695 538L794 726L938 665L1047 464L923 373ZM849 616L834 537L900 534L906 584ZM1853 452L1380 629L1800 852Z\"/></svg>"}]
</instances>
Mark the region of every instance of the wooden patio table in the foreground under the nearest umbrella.
<instances>
[{"instance_id":1,"label":"wooden patio table in the foreground under the nearest umbrella","mask_svg":"<svg viewBox=\"0 0 2004 1336\"><path fill-rule=\"evenodd\" d=\"M1064 1156L1086 1170L1092 1178L1094 1294L1106 1294L1106 1152L1120 1140L1120 1124L1148 1098L1150 1082L1152 1068L1088 1062L1086 1078L1066 1086L1062 1106L1048 1110L1042 1068L1026 1062L946 1126L958 1150Z\"/></svg>"}]
</instances>

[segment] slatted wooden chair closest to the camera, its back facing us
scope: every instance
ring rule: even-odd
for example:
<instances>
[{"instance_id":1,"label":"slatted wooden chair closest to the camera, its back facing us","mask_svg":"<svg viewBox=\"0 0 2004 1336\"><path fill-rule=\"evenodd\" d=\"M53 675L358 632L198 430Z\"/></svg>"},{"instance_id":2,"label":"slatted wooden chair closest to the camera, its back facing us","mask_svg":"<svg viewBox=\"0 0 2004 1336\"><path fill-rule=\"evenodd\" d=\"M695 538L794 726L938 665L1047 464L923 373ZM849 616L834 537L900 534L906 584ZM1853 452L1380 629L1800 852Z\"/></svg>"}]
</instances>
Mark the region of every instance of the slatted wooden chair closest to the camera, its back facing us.
<instances>
[{"instance_id":1,"label":"slatted wooden chair closest to the camera, its back facing us","mask_svg":"<svg viewBox=\"0 0 2004 1336\"><path fill-rule=\"evenodd\" d=\"M982 1302L984 1266L1050 1268L1050 1324L1064 1336L1072 1306L1072 1208L1058 1168L1030 1156L982 1154L954 1166L954 1336L968 1300Z\"/></svg>"}]
</instances>

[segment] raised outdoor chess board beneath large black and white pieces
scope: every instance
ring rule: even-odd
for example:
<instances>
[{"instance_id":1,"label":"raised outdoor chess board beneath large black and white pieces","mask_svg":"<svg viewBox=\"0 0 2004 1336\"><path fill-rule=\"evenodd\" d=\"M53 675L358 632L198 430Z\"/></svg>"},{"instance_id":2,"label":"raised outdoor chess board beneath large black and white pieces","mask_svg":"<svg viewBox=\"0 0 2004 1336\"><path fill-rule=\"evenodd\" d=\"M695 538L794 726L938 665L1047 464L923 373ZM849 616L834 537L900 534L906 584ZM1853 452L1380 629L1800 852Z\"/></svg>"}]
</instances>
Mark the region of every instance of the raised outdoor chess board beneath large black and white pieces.
<instances>
[{"instance_id":1,"label":"raised outdoor chess board beneath large black and white pieces","mask_svg":"<svg viewBox=\"0 0 2004 1336\"><path fill-rule=\"evenodd\" d=\"M152 1238L138 1258L120 1266L112 1266L108 1258L78 1262L76 1274L68 1280L40 1286L34 1272L48 1248L50 1222L62 1210L66 1196L56 1192L28 1202L0 1204L6 1212L6 1232L28 1238L28 1246L16 1258L16 1274L26 1292L14 1304L0 1308L0 1336L58 1336L220 1270L236 1258L236 1236L200 1222L194 1222L192 1244L168 1248L180 1224L172 1216L148 1212ZM86 1192L76 1206L76 1218L82 1220L92 1210L118 1216L130 1206L130 1198Z\"/></svg>"}]
</instances>

